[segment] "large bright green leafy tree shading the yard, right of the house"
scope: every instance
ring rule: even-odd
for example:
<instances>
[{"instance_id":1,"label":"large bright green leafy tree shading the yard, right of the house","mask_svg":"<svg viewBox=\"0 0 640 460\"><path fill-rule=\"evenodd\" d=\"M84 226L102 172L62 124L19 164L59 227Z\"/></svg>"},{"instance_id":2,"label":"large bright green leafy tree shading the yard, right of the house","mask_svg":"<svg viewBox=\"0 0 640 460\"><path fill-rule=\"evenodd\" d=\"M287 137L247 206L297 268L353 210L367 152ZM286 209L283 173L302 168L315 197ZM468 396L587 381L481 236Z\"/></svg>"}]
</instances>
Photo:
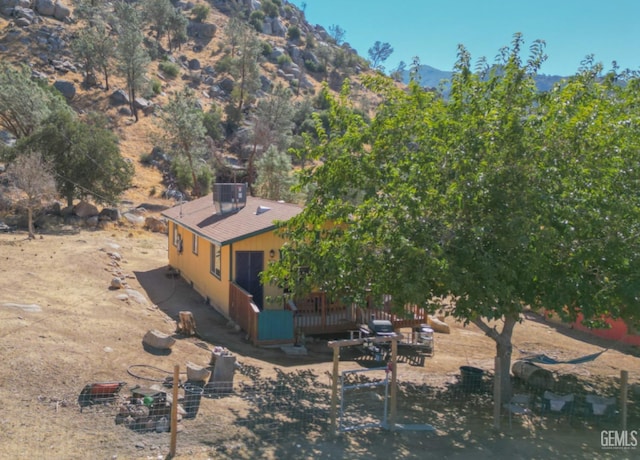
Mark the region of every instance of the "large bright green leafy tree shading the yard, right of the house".
<instances>
[{"instance_id":1,"label":"large bright green leafy tree shading the yard, right of the house","mask_svg":"<svg viewBox=\"0 0 640 460\"><path fill-rule=\"evenodd\" d=\"M385 101L370 123L331 98L331 130L309 146L323 161L301 176L312 192L265 276L296 294L446 308L495 342L503 398L529 308L594 325L640 311L639 82L587 66L540 94L543 43L526 62L522 45L481 74L461 47L448 100L370 79Z\"/></svg>"}]
</instances>

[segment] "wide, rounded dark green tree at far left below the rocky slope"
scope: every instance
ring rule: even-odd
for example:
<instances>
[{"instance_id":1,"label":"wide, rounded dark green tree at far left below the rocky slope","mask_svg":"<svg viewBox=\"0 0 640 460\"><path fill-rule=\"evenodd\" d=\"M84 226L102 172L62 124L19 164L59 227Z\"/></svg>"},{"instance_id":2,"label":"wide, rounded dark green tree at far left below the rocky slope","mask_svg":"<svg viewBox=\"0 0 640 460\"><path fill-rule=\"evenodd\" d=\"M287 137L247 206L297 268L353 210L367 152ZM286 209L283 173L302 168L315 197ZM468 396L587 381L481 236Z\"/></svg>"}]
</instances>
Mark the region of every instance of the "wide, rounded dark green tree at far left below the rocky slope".
<instances>
[{"instance_id":1,"label":"wide, rounded dark green tree at far left below the rocky slope","mask_svg":"<svg viewBox=\"0 0 640 460\"><path fill-rule=\"evenodd\" d=\"M120 155L118 139L100 114L79 120L68 111L53 113L15 153L38 151L55 173L58 193L71 206L76 198L115 204L131 185L133 167Z\"/></svg>"}]
</instances>

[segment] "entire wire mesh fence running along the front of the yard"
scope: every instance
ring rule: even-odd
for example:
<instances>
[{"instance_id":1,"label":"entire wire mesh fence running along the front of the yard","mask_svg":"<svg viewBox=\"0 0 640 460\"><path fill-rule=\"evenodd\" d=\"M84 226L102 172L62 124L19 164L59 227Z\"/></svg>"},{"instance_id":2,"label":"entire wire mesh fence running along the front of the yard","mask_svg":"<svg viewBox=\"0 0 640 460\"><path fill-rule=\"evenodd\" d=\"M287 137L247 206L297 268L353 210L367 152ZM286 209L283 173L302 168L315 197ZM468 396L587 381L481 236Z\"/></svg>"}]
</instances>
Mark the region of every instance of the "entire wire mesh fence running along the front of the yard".
<instances>
[{"instance_id":1,"label":"entire wire mesh fence running along the front of the yard","mask_svg":"<svg viewBox=\"0 0 640 460\"><path fill-rule=\"evenodd\" d=\"M386 374L384 369L358 369L339 381L340 423L363 429L337 433L331 430L332 378L326 373L318 375L314 369L265 370L245 365L233 382L222 382L224 385L181 383L176 453L216 459L290 458L293 452L302 458L345 458L362 449L389 455L401 449L415 454L407 458L419 458L427 439L442 452L470 439L484 439L487 446L497 442L490 431L494 414L490 371L469 382L463 372L405 379L400 369L395 418L388 399L391 384L389 388L382 384ZM514 393L533 396L530 417L514 417L507 423L507 413L502 411L503 429L518 442L528 443L528 449L537 455L558 449L558 443L599 449L602 431L621 430L620 384L615 375L586 378L557 373L549 388L532 388L514 378ZM640 375L630 372L628 430L639 426L639 384ZM76 393L55 401L37 401L43 408L42 420L24 422L34 427L34 438L25 438L25 444L37 448L25 451L27 456L16 450L4 457L86 458L87 452L98 459L166 456L171 444L171 393L171 388L162 385L134 386L114 395L92 393L87 398L86 393ZM564 410L552 409L560 407L558 400L564 401ZM611 408L609 401L613 401ZM382 423L385 420L387 424ZM47 440L45 425L50 423L66 425L69 436ZM433 434L394 434L394 430L424 426L432 427ZM538 445L540 436L550 440L548 448ZM56 455L62 452L64 455Z\"/></svg>"}]
</instances>

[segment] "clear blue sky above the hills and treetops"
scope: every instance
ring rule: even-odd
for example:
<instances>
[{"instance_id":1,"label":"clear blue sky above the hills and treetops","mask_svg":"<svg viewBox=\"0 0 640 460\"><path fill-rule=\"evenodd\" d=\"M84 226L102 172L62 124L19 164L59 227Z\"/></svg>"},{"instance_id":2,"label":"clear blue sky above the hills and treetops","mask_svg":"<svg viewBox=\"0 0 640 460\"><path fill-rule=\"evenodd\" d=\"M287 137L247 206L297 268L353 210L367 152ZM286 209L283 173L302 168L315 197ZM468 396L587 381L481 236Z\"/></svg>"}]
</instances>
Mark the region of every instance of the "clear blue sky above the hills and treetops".
<instances>
[{"instance_id":1,"label":"clear blue sky above the hills and treetops","mask_svg":"<svg viewBox=\"0 0 640 460\"><path fill-rule=\"evenodd\" d=\"M302 0L291 3L300 7ZM452 70L458 44L474 62L489 62L499 49L521 32L528 46L546 42L547 61L541 73L571 75L580 61L593 54L611 68L640 70L640 0L306 0L311 24L329 30L339 25L345 41L358 54L376 40L388 42L394 52L384 63L408 65L414 56L440 70Z\"/></svg>"}]
</instances>

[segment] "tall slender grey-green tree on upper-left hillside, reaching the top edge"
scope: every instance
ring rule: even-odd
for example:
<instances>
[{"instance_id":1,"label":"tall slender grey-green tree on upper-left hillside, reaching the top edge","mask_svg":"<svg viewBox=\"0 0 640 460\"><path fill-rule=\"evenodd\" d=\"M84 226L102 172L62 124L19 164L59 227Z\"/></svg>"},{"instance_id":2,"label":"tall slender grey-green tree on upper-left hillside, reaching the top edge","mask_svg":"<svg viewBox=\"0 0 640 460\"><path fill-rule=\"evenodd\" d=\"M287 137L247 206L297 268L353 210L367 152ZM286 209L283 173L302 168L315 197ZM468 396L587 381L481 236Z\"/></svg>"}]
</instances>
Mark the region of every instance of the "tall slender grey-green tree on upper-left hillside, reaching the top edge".
<instances>
[{"instance_id":1,"label":"tall slender grey-green tree on upper-left hillside, reaching the top edge","mask_svg":"<svg viewBox=\"0 0 640 460\"><path fill-rule=\"evenodd\" d=\"M118 71L126 80L129 106L138 121L135 99L146 85L147 65L150 61L143 44L142 18L134 6L125 2L116 4L116 15L119 32L116 48Z\"/></svg>"}]
</instances>

